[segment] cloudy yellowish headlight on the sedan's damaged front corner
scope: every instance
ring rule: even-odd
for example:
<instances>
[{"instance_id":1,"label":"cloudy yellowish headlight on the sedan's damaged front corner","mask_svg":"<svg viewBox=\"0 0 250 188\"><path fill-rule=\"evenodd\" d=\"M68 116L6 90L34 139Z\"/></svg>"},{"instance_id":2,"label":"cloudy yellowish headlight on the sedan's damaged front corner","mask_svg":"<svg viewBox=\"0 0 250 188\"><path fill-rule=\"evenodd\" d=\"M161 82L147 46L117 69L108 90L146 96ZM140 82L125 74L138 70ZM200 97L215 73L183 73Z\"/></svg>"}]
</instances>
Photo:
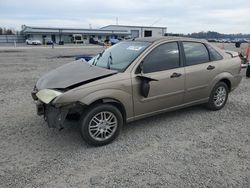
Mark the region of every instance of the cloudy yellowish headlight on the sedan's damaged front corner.
<instances>
[{"instance_id":1,"label":"cloudy yellowish headlight on the sedan's damaged front corner","mask_svg":"<svg viewBox=\"0 0 250 188\"><path fill-rule=\"evenodd\" d=\"M54 98L58 97L61 94L62 92L60 91L55 91L52 89L43 89L38 91L36 96L40 101L44 102L45 104L49 104Z\"/></svg>"}]
</instances>

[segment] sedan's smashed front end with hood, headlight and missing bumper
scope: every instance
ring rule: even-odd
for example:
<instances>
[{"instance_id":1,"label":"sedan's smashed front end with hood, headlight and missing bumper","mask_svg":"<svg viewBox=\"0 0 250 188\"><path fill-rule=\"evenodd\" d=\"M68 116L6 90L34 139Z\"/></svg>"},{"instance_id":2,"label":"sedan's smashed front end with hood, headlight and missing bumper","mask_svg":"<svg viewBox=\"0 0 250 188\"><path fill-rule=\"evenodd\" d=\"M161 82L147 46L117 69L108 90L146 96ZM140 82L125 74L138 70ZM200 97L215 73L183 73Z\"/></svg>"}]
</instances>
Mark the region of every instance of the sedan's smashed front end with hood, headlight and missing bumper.
<instances>
[{"instance_id":1,"label":"sedan's smashed front end with hood, headlight and missing bumper","mask_svg":"<svg viewBox=\"0 0 250 188\"><path fill-rule=\"evenodd\" d=\"M72 100L58 103L56 99L74 88L111 76L116 72L79 61L66 64L45 74L38 80L31 92L37 115L44 116L48 127L62 129L66 118L78 119L84 104Z\"/></svg>"}]
</instances>

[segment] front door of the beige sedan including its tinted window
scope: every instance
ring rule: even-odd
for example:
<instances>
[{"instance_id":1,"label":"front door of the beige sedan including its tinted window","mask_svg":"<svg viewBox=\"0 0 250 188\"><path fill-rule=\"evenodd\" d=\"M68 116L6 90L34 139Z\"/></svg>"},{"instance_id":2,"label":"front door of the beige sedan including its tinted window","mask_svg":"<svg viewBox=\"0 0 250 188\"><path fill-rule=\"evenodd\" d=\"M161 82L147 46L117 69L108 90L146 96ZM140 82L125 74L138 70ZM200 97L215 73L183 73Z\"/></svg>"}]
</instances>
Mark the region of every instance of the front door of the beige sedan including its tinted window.
<instances>
[{"instance_id":1,"label":"front door of the beige sedan including its tinted window","mask_svg":"<svg viewBox=\"0 0 250 188\"><path fill-rule=\"evenodd\" d=\"M154 48L143 60L143 73L132 76L135 117L150 115L183 103L184 68L177 42ZM151 78L148 96L143 96L141 76Z\"/></svg>"}]
</instances>

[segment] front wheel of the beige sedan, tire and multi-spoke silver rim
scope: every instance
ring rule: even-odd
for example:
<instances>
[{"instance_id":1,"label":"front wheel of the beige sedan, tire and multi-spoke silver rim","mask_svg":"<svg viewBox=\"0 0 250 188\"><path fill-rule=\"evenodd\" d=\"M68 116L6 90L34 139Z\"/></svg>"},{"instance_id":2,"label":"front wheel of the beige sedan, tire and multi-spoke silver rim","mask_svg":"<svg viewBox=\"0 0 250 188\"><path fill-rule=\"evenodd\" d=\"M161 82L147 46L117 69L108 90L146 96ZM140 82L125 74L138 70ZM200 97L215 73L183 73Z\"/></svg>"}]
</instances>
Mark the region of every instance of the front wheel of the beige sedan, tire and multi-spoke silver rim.
<instances>
[{"instance_id":1,"label":"front wheel of the beige sedan, tire and multi-spoke silver rim","mask_svg":"<svg viewBox=\"0 0 250 188\"><path fill-rule=\"evenodd\" d=\"M83 139L92 146L111 143L120 133L123 125L121 112L110 104L91 106L81 119Z\"/></svg>"}]
</instances>

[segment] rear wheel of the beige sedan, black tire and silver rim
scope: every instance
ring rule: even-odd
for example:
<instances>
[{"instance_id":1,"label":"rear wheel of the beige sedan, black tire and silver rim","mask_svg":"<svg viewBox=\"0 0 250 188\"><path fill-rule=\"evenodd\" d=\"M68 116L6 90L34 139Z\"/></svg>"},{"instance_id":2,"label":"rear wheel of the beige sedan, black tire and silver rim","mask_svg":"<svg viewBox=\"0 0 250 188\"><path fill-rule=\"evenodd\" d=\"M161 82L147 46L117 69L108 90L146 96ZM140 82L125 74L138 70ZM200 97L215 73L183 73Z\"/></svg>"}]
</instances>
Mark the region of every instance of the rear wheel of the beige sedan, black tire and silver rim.
<instances>
[{"instance_id":1,"label":"rear wheel of the beige sedan, black tire and silver rim","mask_svg":"<svg viewBox=\"0 0 250 188\"><path fill-rule=\"evenodd\" d=\"M229 93L229 89L228 89L227 84L225 82L218 82L214 86L210 94L209 101L206 105L207 108L213 111L222 109L227 103L228 93Z\"/></svg>"}]
</instances>

